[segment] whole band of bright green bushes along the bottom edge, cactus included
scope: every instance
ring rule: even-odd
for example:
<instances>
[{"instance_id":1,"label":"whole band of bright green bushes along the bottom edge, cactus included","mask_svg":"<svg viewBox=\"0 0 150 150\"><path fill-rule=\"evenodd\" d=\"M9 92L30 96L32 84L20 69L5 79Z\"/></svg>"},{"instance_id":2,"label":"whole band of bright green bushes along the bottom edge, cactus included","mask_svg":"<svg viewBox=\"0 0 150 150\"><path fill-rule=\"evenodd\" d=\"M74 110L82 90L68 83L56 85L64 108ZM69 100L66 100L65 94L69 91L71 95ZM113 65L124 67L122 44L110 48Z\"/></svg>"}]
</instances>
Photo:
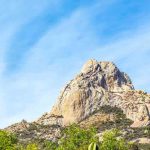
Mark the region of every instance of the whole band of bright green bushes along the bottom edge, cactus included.
<instances>
[{"instance_id":1,"label":"whole band of bright green bushes along the bottom edge, cactus included","mask_svg":"<svg viewBox=\"0 0 150 150\"><path fill-rule=\"evenodd\" d=\"M145 129L149 134L149 128ZM41 140L19 144L15 135L0 131L0 150L148 150L150 145L129 144L117 129L106 130L99 142L96 129L82 129L73 124L62 131L56 141ZM140 149L138 149L138 147Z\"/></svg>"}]
</instances>

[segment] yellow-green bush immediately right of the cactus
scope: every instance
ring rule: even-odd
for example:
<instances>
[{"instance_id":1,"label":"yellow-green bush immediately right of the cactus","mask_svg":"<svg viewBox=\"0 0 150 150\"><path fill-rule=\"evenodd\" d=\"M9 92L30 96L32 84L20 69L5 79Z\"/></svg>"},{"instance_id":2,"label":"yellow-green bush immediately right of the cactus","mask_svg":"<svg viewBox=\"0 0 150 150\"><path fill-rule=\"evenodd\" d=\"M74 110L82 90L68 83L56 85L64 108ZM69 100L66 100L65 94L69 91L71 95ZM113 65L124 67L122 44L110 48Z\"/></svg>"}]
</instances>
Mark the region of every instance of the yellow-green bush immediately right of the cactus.
<instances>
[{"instance_id":1,"label":"yellow-green bush immediately right of the cactus","mask_svg":"<svg viewBox=\"0 0 150 150\"><path fill-rule=\"evenodd\" d=\"M118 138L120 132L117 129L106 131L103 134L101 150L128 150L129 145L123 138Z\"/></svg>"}]
</instances>

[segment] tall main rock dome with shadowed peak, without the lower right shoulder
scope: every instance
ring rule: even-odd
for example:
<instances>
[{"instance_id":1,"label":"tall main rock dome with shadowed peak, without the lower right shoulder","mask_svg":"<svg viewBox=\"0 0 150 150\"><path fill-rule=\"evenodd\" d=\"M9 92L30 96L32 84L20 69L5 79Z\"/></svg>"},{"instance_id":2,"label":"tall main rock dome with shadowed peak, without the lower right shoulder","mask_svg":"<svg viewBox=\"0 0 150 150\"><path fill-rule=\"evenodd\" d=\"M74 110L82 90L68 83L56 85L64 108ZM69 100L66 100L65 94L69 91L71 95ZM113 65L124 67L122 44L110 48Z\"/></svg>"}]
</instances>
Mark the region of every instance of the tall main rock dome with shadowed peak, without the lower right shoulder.
<instances>
[{"instance_id":1,"label":"tall main rock dome with shadowed peak, without the lower right shoulder","mask_svg":"<svg viewBox=\"0 0 150 150\"><path fill-rule=\"evenodd\" d=\"M106 105L109 93L129 90L134 90L130 78L113 62L90 59L65 86L50 114L62 115L64 125L78 122Z\"/></svg>"}]
</instances>

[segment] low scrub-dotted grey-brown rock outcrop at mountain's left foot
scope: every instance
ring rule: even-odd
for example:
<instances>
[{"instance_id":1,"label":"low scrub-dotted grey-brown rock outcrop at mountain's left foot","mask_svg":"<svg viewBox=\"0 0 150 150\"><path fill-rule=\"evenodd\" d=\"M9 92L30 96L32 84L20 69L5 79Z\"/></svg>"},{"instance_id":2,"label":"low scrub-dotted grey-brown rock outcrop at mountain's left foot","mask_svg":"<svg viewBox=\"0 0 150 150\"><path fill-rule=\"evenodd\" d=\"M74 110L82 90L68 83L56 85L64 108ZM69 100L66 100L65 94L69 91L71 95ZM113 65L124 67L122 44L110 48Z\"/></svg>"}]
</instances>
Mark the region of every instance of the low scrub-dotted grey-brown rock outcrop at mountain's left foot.
<instances>
[{"instance_id":1,"label":"low scrub-dotted grey-brown rock outcrop at mountain's left foot","mask_svg":"<svg viewBox=\"0 0 150 150\"><path fill-rule=\"evenodd\" d=\"M54 119L54 118L53 118ZM11 125L4 130L15 133L21 143L32 142L34 140L51 140L56 141L60 137L62 127L57 122L53 121L47 125L47 122L32 122L25 120L20 123Z\"/></svg>"}]
</instances>

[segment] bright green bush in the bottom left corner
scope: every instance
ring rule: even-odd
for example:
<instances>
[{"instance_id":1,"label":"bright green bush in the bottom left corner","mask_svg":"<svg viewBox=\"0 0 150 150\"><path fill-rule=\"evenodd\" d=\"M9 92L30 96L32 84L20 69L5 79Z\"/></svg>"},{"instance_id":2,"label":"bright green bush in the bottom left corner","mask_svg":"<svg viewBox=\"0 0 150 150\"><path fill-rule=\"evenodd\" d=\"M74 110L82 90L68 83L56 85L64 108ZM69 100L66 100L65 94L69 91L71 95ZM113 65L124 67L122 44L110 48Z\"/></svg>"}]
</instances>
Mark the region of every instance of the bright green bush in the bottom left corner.
<instances>
[{"instance_id":1,"label":"bright green bush in the bottom left corner","mask_svg":"<svg viewBox=\"0 0 150 150\"><path fill-rule=\"evenodd\" d=\"M15 135L0 130L0 150L15 150L17 138Z\"/></svg>"}]
</instances>

